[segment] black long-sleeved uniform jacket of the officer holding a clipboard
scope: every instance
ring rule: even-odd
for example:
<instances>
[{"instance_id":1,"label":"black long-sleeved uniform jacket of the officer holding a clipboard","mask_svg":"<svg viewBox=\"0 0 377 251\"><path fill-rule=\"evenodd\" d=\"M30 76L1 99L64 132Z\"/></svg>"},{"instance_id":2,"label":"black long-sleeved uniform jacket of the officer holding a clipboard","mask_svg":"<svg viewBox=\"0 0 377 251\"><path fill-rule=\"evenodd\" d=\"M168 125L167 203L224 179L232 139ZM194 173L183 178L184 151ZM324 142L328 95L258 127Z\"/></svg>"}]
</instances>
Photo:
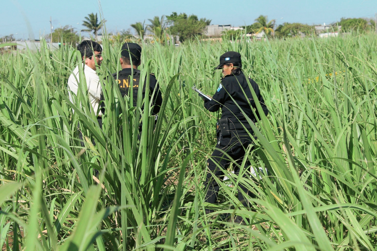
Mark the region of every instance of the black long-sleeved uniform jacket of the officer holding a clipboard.
<instances>
[{"instance_id":1,"label":"black long-sleeved uniform jacket of the officer holding a clipboard","mask_svg":"<svg viewBox=\"0 0 377 251\"><path fill-rule=\"evenodd\" d=\"M212 100L205 99L204 106L207 108L208 111L215 112L218 111L221 107L222 110L222 118L228 117L230 121L237 123L238 120L241 122L247 123L244 114L242 114L241 110L238 108L236 103L241 107L244 113L255 123L256 118L254 117L253 111L250 108L248 100L253 108L256 108L255 102L260 102L264 114L268 114L267 106L264 104L263 97L261 92L259 91L259 87L256 82L249 78L251 87L253 87L258 100L253 99L253 95L251 95L251 90L249 85L247 84L246 77L244 73L241 71L239 75L226 75L221 80L221 84L217 89L215 95L213 95ZM243 90L243 91L242 91ZM245 94L246 96L245 96ZM236 101L234 101L231 99ZM248 100L247 100L248 99ZM255 113L260 118L257 109L255 109ZM233 118L233 119L232 119Z\"/></svg>"}]
</instances>

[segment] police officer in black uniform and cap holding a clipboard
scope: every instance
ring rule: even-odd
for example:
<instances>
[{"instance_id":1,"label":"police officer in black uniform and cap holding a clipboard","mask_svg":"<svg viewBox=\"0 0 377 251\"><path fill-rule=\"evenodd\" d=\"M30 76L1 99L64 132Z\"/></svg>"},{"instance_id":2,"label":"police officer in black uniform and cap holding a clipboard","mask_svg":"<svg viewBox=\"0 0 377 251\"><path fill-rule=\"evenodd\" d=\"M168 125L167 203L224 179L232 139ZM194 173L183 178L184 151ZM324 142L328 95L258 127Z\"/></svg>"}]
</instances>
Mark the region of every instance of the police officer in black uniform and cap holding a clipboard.
<instances>
[{"instance_id":1,"label":"police officer in black uniform and cap holding a clipboard","mask_svg":"<svg viewBox=\"0 0 377 251\"><path fill-rule=\"evenodd\" d=\"M242 159L245 156L245 149L250 143L252 143L244 126L252 135L253 131L239 107L254 123L257 120L254 117L252 109L255 108L255 113L259 117L258 111L256 110L256 102L261 104L264 114L268 114L268 109L264 104L258 85L253 79L249 78L251 87L253 87L256 96L258 97L258 100L254 100L241 67L241 54L238 52L227 52L221 55L220 64L216 68L222 69L224 77L221 80L221 84L219 85L216 94L212 97L212 100L203 98L204 106L208 111L215 112L218 111L219 108L221 108L222 111L221 119L219 121L220 128L217 131L218 140L216 149L211 155L211 158L207 161L210 172L207 173L207 178L204 184L205 186L208 186L205 201L209 203L215 203L217 201L217 195L220 188L219 184L213 179L212 173L222 179L224 173L219 169L218 165L226 170L231 162L228 157L224 155L224 152L236 161L237 165L234 169L234 173L238 174L239 165L242 163ZM244 186L240 185L240 188L244 190L245 193L248 192ZM240 190L238 192L238 199L242 204L245 206L247 205ZM210 212L210 210L207 210L207 212ZM240 218L238 218L238 221L239 220Z\"/></svg>"}]
</instances>

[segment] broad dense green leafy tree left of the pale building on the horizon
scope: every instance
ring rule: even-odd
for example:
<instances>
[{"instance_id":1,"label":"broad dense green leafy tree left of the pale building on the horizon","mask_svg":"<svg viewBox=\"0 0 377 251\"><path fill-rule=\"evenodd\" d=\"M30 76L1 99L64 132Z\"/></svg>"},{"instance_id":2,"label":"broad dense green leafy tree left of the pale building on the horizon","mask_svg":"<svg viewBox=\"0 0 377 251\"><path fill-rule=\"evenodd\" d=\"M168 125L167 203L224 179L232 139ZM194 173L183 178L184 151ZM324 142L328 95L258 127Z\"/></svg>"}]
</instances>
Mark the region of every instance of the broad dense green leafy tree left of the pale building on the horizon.
<instances>
[{"instance_id":1,"label":"broad dense green leafy tree left of the pale building on the horizon","mask_svg":"<svg viewBox=\"0 0 377 251\"><path fill-rule=\"evenodd\" d=\"M177 12L173 12L166 19L168 24L170 24L169 32L172 35L179 35L181 41L201 35L204 32L205 26L211 23L211 20L206 18L198 19L196 15L187 16L185 13L177 15Z\"/></svg>"}]
</instances>

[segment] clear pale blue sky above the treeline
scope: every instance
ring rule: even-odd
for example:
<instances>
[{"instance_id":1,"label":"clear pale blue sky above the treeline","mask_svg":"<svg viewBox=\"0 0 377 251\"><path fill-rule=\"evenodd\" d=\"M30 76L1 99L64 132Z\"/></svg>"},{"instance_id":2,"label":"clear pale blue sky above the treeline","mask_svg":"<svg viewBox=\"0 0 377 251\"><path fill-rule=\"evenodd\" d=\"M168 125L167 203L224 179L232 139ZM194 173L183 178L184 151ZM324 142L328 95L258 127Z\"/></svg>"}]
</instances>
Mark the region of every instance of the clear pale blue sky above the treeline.
<instances>
[{"instance_id":1,"label":"clear pale blue sky above the treeline","mask_svg":"<svg viewBox=\"0 0 377 251\"><path fill-rule=\"evenodd\" d=\"M102 0L101 6L109 31L129 29L132 23L170 15L173 11L211 19L211 24L233 26L251 24L261 14L276 19L277 24L320 24L333 23L342 17L374 18L377 12L376 0ZM91 12L99 12L97 0L4 0L0 37L13 33L16 38L28 38L31 30L35 38L48 34L50 16L54 27L72 25L80 30L84 28L82 20Z\"/></svg>"}]
</instances>

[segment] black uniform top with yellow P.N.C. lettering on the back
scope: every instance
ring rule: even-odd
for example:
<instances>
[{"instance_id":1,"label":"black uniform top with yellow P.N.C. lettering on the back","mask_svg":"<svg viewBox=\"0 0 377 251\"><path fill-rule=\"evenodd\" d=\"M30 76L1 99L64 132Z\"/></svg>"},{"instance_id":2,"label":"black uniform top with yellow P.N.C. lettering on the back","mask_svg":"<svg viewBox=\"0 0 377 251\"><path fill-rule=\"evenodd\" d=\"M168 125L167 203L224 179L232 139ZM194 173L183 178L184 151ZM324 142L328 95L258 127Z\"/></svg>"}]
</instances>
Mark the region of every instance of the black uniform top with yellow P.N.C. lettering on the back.
<instances>
[{"instance_id":1,"label":"black uniform top with yellow P.N.C. lettering on the back","mask_svg":"<svg viewBox=\"0 0 377 251\"><path fill-rule=\"evenodd\" d=\"M123 70L119 71L118 73L114 73L113 77L116 79L116 75L118 74L118 87L120 90L120 93L124 97L125 95L129 94L130 84L131 84L131 68L124 68ZM133 78L132 78L132 90L133 90L133 106L136 106L137 98L138 98L138 90L139 90L139 82L140 82L140 71L133 69ZM145 80L147 81L147 79ZM152 114L156 115L161 108L162 105L162 96L161 91L159 90L159 85L157 83L155 75L153 73L150 73L149 76L149 95L152 97L153 91L155 91L155 94L153 96L153 111ZM145 91L146 91L146 82L144 82L143 85L143 99L145 97ZM144 108L144 106L143 106Z\"/></svg>"}]
</instances>

